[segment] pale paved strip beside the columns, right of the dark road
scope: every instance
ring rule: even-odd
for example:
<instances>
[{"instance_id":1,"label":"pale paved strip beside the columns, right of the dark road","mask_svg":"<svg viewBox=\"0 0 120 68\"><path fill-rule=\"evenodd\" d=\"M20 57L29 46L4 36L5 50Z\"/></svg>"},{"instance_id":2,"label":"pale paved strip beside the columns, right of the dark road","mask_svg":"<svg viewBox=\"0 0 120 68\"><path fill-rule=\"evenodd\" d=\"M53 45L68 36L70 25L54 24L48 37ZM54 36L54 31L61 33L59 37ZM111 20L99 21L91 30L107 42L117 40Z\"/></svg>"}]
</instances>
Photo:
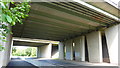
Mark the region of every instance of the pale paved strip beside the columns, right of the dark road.
<instances>
[{"instance_id":1,"label":"pale paved strip beside the columns, right of the dark road","mask_svg":"<svg viewBox=\"0 0 120 68\"><path fill-rule=\"evenodd\" d=\"M67 60L50 60L50 59L26 59L27 62L40 67L46 68L118 68L108 63L88 63L88 62L76 62Z\"/></svg>"}]
</instances>

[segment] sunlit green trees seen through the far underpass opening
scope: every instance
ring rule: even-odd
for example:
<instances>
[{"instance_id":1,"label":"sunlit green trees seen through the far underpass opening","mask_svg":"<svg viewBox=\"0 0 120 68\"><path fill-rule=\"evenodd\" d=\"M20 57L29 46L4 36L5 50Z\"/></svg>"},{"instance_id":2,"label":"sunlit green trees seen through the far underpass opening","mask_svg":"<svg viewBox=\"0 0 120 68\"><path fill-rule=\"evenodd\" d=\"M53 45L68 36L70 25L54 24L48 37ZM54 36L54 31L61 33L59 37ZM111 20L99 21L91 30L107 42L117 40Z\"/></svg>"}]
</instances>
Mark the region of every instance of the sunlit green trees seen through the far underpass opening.
<instances>
[{"instance_id":1,"label":"sunlit green trees seen through the far underpass opening","mask_svg":"<svg viewBox=\"0 0 120 68\"><path fill-rule=\"evenodd\" d=\"M16 49L16 51L14 50ZM28 56L28 57L36 57L37 48L29 47L27 49L17 49L16 47L12 48L13 56Z\"/></svg>"}]
</instances>

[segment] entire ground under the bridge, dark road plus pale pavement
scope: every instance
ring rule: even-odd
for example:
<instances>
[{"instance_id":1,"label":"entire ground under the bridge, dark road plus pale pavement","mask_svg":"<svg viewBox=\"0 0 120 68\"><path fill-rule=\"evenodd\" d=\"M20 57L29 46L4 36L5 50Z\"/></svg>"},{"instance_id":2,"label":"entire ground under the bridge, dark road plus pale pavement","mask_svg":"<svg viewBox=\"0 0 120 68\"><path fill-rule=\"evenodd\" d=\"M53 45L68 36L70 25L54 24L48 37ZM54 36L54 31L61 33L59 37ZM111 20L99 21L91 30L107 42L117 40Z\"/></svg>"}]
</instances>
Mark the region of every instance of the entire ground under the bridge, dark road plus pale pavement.
<instances>
[{"instance_id":1,"label":"entire ground under the bridge, dark road plus pale pavement","mask_svg":"<svg viewBox=\"0 0 120 68\"><path fill-rule=\"evenodd\" d=\"M110 64L76 62L51 59L12 59L6 68L118 68Z\"/></svg>"}]
</instances>

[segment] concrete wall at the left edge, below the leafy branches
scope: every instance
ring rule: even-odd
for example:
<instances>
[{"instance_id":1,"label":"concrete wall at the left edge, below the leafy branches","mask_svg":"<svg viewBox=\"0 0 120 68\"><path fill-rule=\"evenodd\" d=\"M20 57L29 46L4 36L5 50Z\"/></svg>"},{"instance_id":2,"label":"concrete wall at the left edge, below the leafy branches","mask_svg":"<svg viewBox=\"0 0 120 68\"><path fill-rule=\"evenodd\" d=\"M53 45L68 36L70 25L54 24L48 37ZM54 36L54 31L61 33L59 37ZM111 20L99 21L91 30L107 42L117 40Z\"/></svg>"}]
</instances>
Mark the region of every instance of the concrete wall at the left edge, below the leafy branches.
<instances>
[{"instance_id":1,"label":"concrete wall at the left edge, below the leafy branches","mask_svg":"<svg viewBox=\"0 0 120 68\"><path fill-rule=\"evenodd\" d=\"M11 28L9 26L9 28ZM2 32L0 32L2 33ZM0 35L1 37L1 35ZM5 50L0 51L0 68L2 68L2 66L6 66L8 64L8 62L10 61L10 53L11 53L11 45L12 45L12 35L8 34L6 37L6 41L7 42L3 42L0 40L0 45L3 45L3 47L5 48Z\"/></svg>"}]
</instances>

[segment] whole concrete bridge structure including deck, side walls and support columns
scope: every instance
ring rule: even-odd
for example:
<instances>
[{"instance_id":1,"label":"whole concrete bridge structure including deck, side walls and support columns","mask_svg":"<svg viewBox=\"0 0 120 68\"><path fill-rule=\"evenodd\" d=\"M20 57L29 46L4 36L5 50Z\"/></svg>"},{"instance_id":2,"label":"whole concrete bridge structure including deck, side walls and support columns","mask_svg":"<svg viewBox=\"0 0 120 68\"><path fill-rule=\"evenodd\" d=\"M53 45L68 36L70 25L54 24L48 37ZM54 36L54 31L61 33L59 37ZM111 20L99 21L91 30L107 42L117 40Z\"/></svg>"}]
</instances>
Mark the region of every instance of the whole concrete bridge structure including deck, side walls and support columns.
<instances>
[{"instance_id":1,"label":"whole concrete bridge structure including deck, side walls and support columns","mask_svg":"<svg viewBox=\"0 0 120 68\"><path fill-rule=\"evenodd\" d=\"M29 17L24 24L12 27L13 35L8 36L6 44L11 45L12 37L59 41L61 60L118 65L120 21L116 11L119 9L106 2L33 2ZM38 57L51 58L51 43L15 41L13 44L36 46ZM11 46L5 47L8 50L3 53L10 54ZM7 58L5 62L0 59L2 66L7 65L9 56L2 57Z\"/></svg>"}]
</instances>

